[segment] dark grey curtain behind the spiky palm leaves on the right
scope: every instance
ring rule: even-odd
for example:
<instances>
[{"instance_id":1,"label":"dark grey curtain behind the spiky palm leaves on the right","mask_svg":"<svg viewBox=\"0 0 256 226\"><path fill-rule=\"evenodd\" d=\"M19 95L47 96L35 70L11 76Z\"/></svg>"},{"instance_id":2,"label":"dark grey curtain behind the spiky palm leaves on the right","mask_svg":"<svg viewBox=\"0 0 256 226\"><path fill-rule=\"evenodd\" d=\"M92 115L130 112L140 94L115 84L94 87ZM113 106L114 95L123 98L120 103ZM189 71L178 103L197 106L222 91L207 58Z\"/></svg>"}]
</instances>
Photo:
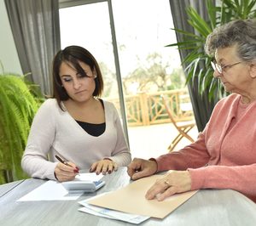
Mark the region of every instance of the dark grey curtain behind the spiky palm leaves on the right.
<instances>
[{"instance_id":1,"label":"dark grey curtain behind the spiky palm leaves on the right","mask_svg":"<svg viewBox=\"0 0 256 226\"><path fill-rule=\"evenodd\" d=\"M183 31L194 32L194 29L188 23L188 15L186 13L186 8L189 6L195 8L201 17L207 20L207 7L205 0L170 0L171 11L172 11L172 19L174 27ZM177 42L181 42L182 35L176 32ZM203 47L202 47L203 48ZM179 49L179 54L181 60L189 54L188 49ZM185 68L186 65L183 65ZM197 81L192 84L191 82L188 84L189 88L189 96L191 99L191 103L194 110L195 121L198 128L198 131L202 131L204 127L207 125L207 121L212 114L212 110L214 105L216 104L215 101L209 102L208 100L208 93L205 92L202 96L198 92Z\"/></svg>"}]
</instances>

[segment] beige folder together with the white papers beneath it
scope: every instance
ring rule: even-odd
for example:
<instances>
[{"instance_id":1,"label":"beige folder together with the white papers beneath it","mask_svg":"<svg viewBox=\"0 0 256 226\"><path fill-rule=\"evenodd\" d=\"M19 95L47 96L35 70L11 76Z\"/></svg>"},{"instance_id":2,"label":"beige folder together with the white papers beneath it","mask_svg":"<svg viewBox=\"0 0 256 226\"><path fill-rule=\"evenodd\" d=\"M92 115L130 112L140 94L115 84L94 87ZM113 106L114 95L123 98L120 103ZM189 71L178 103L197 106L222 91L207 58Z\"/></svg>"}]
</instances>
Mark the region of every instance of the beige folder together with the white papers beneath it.
<instances>
[{"instance_id":1,"label":"beige folder together with the white papers beneath it","mask_svg":"<svg viewBox=\"0 0 256 226\"><path fill-rule=\"evenodd\" d=\"M124 188L80 201L79 203L84 207L79 211L129 223L142 223L150 217L165 218L177 206L195 195L196 191L172 195L165 201L147 200L145 198L147 190L160 177L162 175L141 178Z\"/></svg>"}]
</instances>

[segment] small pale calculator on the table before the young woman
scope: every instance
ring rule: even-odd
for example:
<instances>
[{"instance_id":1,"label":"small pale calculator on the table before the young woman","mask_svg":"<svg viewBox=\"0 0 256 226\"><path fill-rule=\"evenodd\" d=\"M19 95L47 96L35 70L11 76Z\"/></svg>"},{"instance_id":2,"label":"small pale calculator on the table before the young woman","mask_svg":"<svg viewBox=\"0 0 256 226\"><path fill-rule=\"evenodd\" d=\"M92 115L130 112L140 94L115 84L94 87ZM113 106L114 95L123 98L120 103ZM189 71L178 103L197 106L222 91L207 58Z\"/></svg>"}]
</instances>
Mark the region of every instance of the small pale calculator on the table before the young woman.
<instances>
[{"instance_id":1,"label":"small pale calculator on the table before the young woman","mask_svg":"<svg viewBox=\"0 0 256 226\"><path fill-rule=\"evenodd\" d=\"M90 193L102 188L102 186L105 184L105 181L73 180L62 182L61 184L65 189L67 189L68 193Z\"/></svg>"}]
</instances>

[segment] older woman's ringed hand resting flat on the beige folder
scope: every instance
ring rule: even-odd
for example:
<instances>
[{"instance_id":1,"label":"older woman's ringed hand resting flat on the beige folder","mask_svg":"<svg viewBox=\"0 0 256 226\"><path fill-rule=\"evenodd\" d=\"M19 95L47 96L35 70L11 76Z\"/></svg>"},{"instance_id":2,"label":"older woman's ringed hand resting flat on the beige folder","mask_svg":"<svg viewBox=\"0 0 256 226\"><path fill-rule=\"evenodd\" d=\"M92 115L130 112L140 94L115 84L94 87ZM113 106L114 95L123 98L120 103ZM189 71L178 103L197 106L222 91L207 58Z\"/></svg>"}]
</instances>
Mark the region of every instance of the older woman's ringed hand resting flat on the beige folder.
<instances>
[{"instance_id":1,"label":"older woman's ringed hand resting flat on the beige folder","mask_svg":"<svg viewBox=\"0 0 256 226\"><path fill-rule=\"evenodd\" d=\"M163 201L176 193L182 193L191 189L191 178L189 171L169 171L154 185L148 189L146 199Z\"/></svg>"}]
</instances>

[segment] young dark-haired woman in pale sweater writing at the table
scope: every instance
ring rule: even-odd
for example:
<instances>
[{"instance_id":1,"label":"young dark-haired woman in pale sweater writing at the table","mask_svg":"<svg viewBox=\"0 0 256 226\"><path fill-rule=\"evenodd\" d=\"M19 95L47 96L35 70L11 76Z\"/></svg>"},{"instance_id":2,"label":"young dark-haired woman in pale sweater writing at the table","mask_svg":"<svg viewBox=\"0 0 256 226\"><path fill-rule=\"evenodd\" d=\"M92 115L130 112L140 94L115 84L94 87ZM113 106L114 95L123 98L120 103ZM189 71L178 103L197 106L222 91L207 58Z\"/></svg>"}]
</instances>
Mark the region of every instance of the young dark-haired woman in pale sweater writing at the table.
<instances>
[{"instance_id":1,"label":"young dark-haired woman in pale sweater writing at the table","mask_svg":"<svg viewBox=\"0 0 256 226\"><path fill-rule=\"evenodd\" d=\"M117 110L99 99L103 80L93 55L79 46L59 51L53 76L54 98L34 117L21 161L24 171L33 178L67 181L79 169L105 174L127 166L131 153Z\"/></svg>"}]
</instances>

